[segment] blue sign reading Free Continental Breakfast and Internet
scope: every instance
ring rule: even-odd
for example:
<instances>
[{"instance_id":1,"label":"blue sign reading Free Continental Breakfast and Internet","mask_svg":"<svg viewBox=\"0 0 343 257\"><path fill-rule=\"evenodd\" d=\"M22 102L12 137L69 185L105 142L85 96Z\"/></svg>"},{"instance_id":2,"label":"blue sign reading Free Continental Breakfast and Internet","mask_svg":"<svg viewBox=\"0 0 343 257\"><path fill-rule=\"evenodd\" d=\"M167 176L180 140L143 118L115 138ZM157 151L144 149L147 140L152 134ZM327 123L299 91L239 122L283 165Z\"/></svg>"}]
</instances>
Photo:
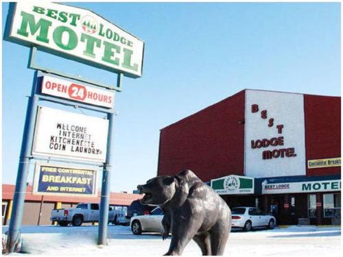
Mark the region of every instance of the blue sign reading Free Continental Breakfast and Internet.
<instances>
[{"instance_id":1,"label":"blue sign reading Free Continental Breakfast and Internet","mask_svg":"<svg viewBox=\"0 0 343 257\"><path fill-rule=\"evenodd\" d=\"M32 193L97 196L97 171L80 167L36 164Z\"/></svg>"}]
</instances>

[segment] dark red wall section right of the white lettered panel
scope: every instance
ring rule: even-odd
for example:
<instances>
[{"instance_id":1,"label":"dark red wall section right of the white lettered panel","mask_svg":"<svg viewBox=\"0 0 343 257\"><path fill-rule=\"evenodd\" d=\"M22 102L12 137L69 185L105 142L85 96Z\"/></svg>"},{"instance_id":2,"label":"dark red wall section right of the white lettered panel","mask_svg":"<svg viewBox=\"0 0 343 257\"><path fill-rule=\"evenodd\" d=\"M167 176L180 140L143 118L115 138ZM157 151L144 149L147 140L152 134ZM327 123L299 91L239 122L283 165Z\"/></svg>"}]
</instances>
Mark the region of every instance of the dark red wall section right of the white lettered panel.
<instances>
[{"instance_id":1,"label":"dark red wall section right of the white lettered panel","mask_svg":"<svg viewBox=\"0 0 343 257\"><path fill-rule=\"evenodd\" d=\"M341 99L304 95L306 160L341 156ZM308 169L307 175L340 174L341 167Z\"/></svg>"}]
</instances>

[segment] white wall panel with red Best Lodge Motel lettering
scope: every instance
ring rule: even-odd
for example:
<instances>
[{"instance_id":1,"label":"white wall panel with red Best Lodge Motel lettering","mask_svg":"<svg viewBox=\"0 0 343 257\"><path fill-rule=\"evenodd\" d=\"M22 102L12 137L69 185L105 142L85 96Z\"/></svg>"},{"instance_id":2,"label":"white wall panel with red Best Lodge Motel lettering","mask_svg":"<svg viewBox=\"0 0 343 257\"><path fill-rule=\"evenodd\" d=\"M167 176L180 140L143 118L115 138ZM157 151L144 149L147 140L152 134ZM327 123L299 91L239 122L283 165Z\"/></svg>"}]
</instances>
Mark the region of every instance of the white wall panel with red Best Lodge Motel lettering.
<instances>
[{"instance_id":1,"label":"white wall panel with red Best Lodge Motel lettering","mask_svg":"<svg viewBox=\"0 0 343 257\"><path fill-rule=\"evenodd\" d=\"M305 175L303 103L300 94L246 90L244 175Z\"/></svg>"}]
</instances>

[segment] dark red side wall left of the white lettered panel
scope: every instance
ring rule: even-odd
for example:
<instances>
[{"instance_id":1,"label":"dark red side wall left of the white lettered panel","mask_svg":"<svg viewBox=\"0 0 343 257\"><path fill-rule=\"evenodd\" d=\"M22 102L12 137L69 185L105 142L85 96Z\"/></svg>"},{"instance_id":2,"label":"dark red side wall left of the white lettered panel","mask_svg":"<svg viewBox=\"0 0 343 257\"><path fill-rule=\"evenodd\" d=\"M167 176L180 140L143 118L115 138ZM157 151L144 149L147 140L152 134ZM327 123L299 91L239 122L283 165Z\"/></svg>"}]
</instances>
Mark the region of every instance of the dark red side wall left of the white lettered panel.
<instances>
[{"instance_id":1,"label":"dark red side wall left of the white lettered panel","mask_svg":"<svg viewBox=\"0 0 343 257\"><path fill-rule=\"evenodd\" d=\"M158 175L244 175L244 90L161 130Z\"/></svg>"}]
</instances>

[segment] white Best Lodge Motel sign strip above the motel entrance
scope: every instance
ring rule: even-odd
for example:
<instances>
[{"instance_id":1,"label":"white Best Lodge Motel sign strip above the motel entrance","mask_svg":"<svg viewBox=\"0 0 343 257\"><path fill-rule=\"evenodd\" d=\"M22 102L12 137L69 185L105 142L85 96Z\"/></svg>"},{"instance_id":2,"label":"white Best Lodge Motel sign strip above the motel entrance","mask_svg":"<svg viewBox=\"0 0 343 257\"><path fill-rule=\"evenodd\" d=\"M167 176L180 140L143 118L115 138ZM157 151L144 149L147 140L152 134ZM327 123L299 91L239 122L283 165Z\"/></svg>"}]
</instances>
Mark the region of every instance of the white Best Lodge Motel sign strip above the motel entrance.
<instances>
[{"instance_id":1,"label":"white Best Lodge Motel sign strip above the motel entrance","mask_svg":"<svg viewBox=\"0 0 343 257\"><path fill-rule=\"evenodd\" d=\"M271 183L267 180L262 182L262 194L280 194L280 193L314 193L340 191L340 180L320 180L304 182L285 182Z\"/></svg>"}]
</instances>

